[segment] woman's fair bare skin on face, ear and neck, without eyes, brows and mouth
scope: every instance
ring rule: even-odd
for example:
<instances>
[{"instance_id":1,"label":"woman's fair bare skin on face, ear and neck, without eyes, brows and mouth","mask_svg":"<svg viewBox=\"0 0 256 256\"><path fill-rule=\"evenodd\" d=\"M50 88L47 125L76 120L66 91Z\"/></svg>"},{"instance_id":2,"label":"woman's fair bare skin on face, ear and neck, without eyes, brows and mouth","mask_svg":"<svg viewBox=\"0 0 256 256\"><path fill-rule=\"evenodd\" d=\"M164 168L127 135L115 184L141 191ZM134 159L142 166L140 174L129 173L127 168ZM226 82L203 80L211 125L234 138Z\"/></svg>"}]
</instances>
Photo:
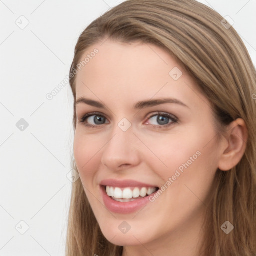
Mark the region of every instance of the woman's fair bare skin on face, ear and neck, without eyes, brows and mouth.
<instances>
[{"instance_id":1,"label":"woman's fair bare skin on face, ear and neck, without eyes, brows and mouth","mask_svg":"<svg viewBox=\"0 0 256 256\"><path fill-rule=\"evenodd\" d=\"M74 136L75 162L101 231L111 243L124 246L122 256L198 255L214 175L218 167L224 171L239 162L245 149L245 124L237 119L217 140L209 101L167 52L138 42L108 39L101 44L84 52L82 59L94 48L99 50L76 75L76 99L103 102L106 109L78 103ZM169 75L174 67L183 73L178 80ZM164 103L133 108L137 101L165 97L187 107ZM96 124L94 116L87 122L96 127L79 122L93 111L106 117L102 124ZM174 115L178 122L166 117L170 125L159 128L157 116L151 117L157 111ZM131 124L127 131L118 126L123 118ZM142 210L117 214L104 206L101 180L134 179L161 187L198 151L200 156ZM118 229L124 220L131 226L125 234Z\"/></svg>"}]
</instances>

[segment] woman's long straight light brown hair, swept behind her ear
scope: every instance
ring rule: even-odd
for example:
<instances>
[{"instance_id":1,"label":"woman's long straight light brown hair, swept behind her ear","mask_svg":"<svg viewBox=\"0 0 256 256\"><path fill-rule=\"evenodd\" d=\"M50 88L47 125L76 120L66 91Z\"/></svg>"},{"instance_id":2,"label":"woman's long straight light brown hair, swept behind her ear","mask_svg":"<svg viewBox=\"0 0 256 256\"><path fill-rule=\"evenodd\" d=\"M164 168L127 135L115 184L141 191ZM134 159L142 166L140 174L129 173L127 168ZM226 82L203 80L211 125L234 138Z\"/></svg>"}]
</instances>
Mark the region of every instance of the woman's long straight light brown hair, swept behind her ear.
<instances>
[{"instance_id":1,"label":"woman's long straight light brown hair, swept behind her ear","mask_svg":"<svg viewBox=\"0 0 256 256\"><path fill-rule=\"evenodd\" d=\"M227 23L228 24L228 23ZM223 17L195 0L127 0L110 9L80 34L70 67L74 99L77 64L85 50L106 39L151 43L166 50L193 77L211 103L218 134L237 118L248 140L240 162L216 170L203 227L201 253L211 256L256 255L256 71L248 51ZM74 104L73 127L76 128ZM72 168L77 170L74 159ZM234 229L225 234L221 225ZM66 256L119 256L122 246L102 234L81 180L72 184Z\"/></svg>"}]
</instances>

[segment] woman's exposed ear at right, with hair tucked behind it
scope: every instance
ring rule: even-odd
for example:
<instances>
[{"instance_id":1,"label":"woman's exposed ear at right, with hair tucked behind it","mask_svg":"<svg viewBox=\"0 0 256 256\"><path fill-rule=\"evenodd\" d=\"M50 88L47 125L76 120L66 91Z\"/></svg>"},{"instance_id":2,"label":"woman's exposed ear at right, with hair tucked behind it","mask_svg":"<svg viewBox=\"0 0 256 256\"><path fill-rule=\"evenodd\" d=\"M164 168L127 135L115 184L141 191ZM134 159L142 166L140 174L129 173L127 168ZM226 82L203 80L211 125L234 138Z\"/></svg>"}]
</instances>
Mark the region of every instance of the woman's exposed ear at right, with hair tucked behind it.
<instances>
[{"instance_id":1,"label":"woman's exposed ear at right, with hair tucked behind it","mask_svg":"<svg viewBox=\"0 0 256 256\"><path fill-rule=\"evenodd\" d=\"M241 160L248 138L248 130L243 119L237 118L231 122L226 129L226 142L223 144L218 168L226 171L230 170Z\"/></svg>"}]
</instances>

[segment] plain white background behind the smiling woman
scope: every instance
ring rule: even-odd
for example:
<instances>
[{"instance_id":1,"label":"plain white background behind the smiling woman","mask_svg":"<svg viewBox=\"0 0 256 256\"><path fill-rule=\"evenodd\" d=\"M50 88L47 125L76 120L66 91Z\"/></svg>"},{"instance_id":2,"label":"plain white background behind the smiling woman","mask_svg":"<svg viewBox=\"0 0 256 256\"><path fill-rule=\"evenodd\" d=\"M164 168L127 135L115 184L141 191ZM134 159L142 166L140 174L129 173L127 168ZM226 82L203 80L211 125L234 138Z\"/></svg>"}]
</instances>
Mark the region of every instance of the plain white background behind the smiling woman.
<instances>
[{"instance_id":1,"label":"plain white background behind the smiling woman","mask_svg":"<svg viewBox=\"0 0 256 256\"><path fill-rule=\"evenodd\" d=\"M0 0L1 256L64 256L73 99L68 83L51 100L46 94L68 76L79 34L120 2ZM256 1L200 2L233 19L255 65Z\"/></svg>"}]
</instances>

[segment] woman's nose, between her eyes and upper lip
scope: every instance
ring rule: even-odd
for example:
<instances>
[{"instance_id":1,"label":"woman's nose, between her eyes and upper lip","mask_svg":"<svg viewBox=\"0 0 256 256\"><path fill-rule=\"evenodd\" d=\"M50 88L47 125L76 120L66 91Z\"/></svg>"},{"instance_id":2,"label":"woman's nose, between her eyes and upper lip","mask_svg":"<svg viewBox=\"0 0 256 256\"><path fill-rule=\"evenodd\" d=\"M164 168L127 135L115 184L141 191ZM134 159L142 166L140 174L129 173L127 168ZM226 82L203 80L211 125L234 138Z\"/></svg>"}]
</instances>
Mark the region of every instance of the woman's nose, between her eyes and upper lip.
<instances>
[{"instance_id":1,"label":"woman's nose, between her eyes and upper lip","mask_svg":"<svg viewBox=\"0 0 256 256\"><path fill-rule=\"evenodd\" d=\"M123 131L116 125L102 149L101 163L108 169L118 171L139 164L138 139L131 127Z\"/></svg>"}]
</instances>

